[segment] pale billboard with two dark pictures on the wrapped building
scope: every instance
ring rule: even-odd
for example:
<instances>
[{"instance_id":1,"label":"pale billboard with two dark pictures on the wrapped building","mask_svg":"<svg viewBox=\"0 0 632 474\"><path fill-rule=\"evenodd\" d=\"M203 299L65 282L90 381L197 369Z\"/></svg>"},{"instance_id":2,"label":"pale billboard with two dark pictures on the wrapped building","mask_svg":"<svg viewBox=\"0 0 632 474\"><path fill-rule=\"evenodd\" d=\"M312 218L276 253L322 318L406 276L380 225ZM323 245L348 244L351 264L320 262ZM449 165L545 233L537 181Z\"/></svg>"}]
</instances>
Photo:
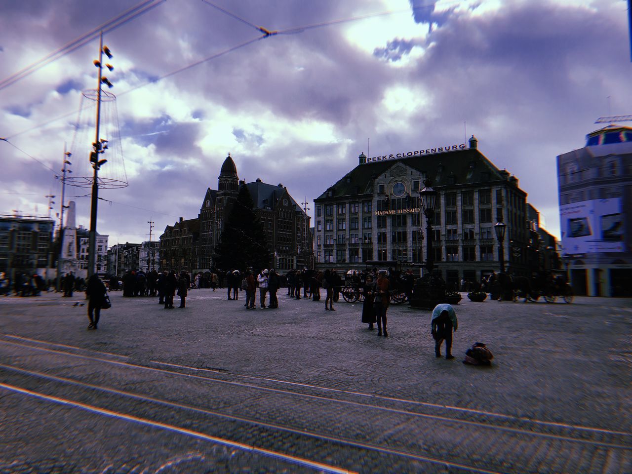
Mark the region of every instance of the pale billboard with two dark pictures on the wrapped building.
<instances>
[{"instance_id":1,"label":"pale billboard with two dark pictures on the wrapped building","mask_svg":"<svg viewBox=\"0 0 632 474\"><path fill-rule=\"evenodd\" d=\"M621 198L593 199L560 206L562 255L624 252Z\"/></svg>"}]
</instances>

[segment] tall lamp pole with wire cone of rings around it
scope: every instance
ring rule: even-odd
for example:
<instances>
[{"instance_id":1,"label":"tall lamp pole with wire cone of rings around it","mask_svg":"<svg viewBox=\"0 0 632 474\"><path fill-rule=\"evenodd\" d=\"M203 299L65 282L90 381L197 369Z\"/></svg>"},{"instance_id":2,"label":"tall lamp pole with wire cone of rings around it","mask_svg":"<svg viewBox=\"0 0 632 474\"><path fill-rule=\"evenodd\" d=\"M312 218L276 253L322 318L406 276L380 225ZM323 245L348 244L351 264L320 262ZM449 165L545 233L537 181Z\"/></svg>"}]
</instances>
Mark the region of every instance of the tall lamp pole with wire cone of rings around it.
<instances>
[{"instance_id":1,"label":"tall lamp pole with wire cone of rings around it","mask_svg":"<svg viewBox=\"0 0 632 474\"><path fill-rule=\"evenodd\" d=\"M106 84L108 87L112 87L112 83L103 75L104 66L112 71L114 68L111 64L103 64L103 55L107 58L112 58L112 54L107 46L103 45L103 33L101 32L99 38L99 59L95 59L94 65L99 70L97 76L97 88L95 90L83 91L83 98L88 100L94 100L96 102L95 113L95 137L92 142L92 147L89 150L81 150L82 145L78 145L78 149L73 150L75 156L82 155L82 152L89 153L89 163L92 167L92 173L90 169L85 166L83 169L75 169L75 175L71 178L66 178L66 184L70 186L78 186L80 188L92 188L92 200L90 207L90 233L88 234L88 277L92 276L96 271L97 255L96 255L96 241L97 241L97 205L99 202L99 188L125 188L128 185L127 174L125 173L125 163L123 162L123 151L121 149L121 139L118 130L118 114L116 112L116 96L109 92L102 90L102 85ZM102 110L103 109L103 110ZM106 110L107 109L107 110ZM78 119L75 138L77 136L82 137L82 133L91 125L88 121L85 121L84 107L80 109L80 116ZM102 114L106 116L104 123L102 124ZM82 120L83 119L83 120ZM107 129L107 139L101 138L101 129ZM73 140L73 143L75 140ZM79 140L78 143L87 143L87 140ZM102 158L100 155L107 152L107 159ZM108 163L105 168L106 171L99 176L101 167ZM90 176L92 174L92 176Z\"/></svg>"}]
</instances>

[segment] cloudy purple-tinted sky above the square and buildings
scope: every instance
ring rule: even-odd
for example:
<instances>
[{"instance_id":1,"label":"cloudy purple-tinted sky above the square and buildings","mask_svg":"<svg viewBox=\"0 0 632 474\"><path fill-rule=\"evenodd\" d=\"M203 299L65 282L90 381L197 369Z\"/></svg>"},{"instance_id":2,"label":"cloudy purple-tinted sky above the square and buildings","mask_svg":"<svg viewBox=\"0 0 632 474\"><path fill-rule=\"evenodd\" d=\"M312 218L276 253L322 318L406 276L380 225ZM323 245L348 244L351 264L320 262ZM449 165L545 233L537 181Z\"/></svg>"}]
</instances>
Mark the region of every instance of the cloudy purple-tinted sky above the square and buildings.
<instances>
[{"instance_id":1,"label":"cloudy purple-tinted sky above the square and buildings","mask_svg":"<svg viewBox=\"0 0 632 474\"><path fill-rule=\"evenodd\" d=\"M64 143L71 176L90 175L82 90L95 87L99 40L13 75L138 2L0 3L0 214L46 215L49 193L58 212ZM116 100L103 106L100 136L114 143L101 176L125 179L124 162L129 183L100 191L110 244L147 240L150 219L160 234L197 217L229 152L241 179L283 183L313 215L369 139L382 155L465 134L559 236L556 155L582 147L600 116L632 113L623 0L211 3L149 0L105 35ZM66 191L88 227L89 190Z\"/></svg>"}]
</instances>

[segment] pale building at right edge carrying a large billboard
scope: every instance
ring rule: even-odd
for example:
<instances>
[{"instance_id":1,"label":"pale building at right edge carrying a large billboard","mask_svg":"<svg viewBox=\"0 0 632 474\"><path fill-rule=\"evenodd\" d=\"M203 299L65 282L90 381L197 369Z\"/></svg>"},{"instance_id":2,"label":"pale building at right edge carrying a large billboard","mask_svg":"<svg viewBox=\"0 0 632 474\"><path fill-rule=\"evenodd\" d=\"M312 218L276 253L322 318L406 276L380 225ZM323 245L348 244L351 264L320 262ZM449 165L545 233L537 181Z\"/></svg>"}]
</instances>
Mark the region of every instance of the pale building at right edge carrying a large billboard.
<instances>
[{"instance_id":1,"label":"pale building at right edge carrying a large billboard","mask_svg":"<svg viewBox=\"0 0 632 474\"><path fill-rule=\"evenodd\" d=\"M562 259L577 295L632 296L632 128L557 157Z\"/></svg>"}]
</instances>

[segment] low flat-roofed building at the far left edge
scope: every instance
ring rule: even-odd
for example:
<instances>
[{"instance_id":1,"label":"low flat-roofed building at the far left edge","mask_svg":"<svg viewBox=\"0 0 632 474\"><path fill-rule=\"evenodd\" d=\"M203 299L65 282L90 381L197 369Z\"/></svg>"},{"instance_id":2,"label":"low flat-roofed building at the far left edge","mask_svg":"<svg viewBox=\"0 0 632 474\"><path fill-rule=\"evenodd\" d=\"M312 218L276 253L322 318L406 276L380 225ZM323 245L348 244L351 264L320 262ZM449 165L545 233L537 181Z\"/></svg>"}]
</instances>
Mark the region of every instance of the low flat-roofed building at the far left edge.
<instances>
[{"instance_id":1,"label":"low flat-roofed building at the far left edge","mask_svg":"<svg viewBox=\"0 0 632 474\"><path fill-rule=\"evenodd\" d=\"M16 272L54 277L52 239L54 221L44 217L0 216L0 272L15 279Z\"/></svg>"}]
</instances>

